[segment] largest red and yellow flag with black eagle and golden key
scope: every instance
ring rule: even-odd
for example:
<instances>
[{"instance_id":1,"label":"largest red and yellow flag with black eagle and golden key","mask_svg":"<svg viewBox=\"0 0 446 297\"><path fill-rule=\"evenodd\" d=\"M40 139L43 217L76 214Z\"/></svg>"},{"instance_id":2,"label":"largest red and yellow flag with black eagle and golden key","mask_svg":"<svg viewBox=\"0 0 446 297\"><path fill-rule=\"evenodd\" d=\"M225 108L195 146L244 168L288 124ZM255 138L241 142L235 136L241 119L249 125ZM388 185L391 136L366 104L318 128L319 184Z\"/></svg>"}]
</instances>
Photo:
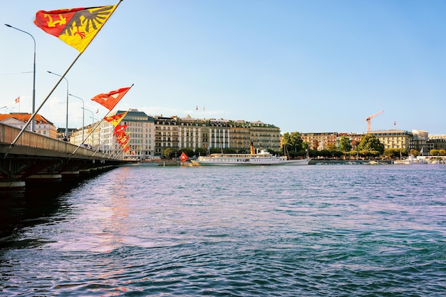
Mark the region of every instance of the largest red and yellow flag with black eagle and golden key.
<instances>
[{"instance_id":1,"label":"largest red and yellow flag with black eagle and golden key","mask_svg":"<svg viewBox=\"0 0 446 297\"><path fill-rule=\"evenodd\" d=\"M117 5L37 11L34 24L83 53Z\"/></svg>"}]
</instances>

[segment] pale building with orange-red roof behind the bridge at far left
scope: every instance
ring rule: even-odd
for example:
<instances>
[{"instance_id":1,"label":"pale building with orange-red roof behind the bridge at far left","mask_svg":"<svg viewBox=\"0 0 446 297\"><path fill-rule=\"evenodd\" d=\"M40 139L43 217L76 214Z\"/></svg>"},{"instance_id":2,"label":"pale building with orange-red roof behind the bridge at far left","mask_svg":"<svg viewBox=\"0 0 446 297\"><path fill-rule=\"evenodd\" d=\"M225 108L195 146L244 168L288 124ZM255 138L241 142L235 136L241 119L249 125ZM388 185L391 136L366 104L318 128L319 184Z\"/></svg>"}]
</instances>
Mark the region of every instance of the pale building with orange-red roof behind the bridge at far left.
<instances>
[{"instance_id":1,"label":"pale building with orange-red roof behind the bridge at far left","mask_svg":"<svg viewBox=\"0 0 446 297\"><path fill-rule=\"evenodd\" d=\"M0 123L11 125L19 129L23 129L30 118L31 113L0 113ZM39 114L34 116L34 129L36 129L34 132L38 134L57 138L56 126ZM31 131L31 124L26 127L26 131Z\"/></svg>"}]
</instances>

